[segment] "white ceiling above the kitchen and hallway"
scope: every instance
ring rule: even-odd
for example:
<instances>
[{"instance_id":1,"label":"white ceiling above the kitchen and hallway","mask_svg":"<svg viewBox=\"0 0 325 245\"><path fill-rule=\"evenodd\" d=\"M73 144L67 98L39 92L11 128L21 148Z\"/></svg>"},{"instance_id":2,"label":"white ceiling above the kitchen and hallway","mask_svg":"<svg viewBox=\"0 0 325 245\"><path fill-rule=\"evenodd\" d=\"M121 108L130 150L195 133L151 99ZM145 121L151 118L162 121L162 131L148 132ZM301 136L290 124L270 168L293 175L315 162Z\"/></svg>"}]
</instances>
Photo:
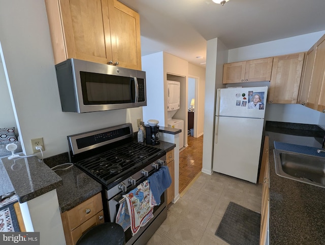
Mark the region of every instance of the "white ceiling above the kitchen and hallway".
<instances>
[{"instance_id":1,"label":"white ceiling above the kitchen and hallway","mask_svg":"<svg viewBox=\"0 0 325 245\"><path fill-rule=\"evenodd\" d=\"M325 30L325 0L119 1L140 14L142 55L165 51L196 65L213 38L233 49Z\"/></svg>"}]
</instances>

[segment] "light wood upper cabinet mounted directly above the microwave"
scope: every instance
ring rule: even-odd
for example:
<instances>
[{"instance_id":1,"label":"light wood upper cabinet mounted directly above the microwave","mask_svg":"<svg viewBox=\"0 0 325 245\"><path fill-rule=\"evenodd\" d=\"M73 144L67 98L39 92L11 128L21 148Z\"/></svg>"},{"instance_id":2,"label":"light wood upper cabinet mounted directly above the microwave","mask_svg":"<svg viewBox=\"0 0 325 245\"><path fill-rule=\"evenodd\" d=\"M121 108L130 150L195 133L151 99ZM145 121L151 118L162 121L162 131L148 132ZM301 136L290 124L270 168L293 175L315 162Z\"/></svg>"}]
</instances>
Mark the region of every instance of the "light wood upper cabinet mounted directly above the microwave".
<instances>
[{"instance_id":1,"label":"light wood upper cabinet mounted directly above the microwave","mask_svg":"<svg viewBox=\"0 0 325 245\"><path fill-rule=\"evenodd\" d=\"M116 0L45 0L54 62L68 58L141 70L140 17Z\"/></svg>"}]
</instances>

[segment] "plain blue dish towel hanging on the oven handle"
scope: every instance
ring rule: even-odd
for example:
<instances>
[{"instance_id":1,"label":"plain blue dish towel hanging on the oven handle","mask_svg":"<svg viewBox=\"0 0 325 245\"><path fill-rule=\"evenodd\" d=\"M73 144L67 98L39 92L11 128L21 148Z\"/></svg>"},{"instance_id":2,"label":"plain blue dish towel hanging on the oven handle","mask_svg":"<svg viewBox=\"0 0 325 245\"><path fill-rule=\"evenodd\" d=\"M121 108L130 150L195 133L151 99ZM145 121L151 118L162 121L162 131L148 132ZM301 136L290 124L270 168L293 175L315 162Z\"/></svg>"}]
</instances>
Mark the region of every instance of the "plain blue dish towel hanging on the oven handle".
<instances>
[{"instance_id":1,"label":"plain blue dish towel hanging on the oven handle","mask_svg":"<svg viewBox=\"0 0 325 245\"><path fill-rule=\"evenodd\" d=\"M172 177L167 166L162 166L157 172L148 177L150 190L157 203L160 204L160 196L171 186Z\"/></svg>"}]
</instances>

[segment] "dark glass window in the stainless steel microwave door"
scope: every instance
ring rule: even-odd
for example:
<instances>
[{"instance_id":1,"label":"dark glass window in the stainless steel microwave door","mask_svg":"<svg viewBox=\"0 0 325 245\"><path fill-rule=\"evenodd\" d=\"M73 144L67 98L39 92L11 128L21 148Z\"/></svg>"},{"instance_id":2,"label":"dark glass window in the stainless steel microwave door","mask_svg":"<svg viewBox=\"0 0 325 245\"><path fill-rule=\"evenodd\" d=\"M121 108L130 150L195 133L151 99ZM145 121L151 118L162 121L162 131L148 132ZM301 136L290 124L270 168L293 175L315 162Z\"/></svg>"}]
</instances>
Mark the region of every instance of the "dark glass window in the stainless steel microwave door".
<instances>
[{"instance_id":1,"label":"dark glass window in the stainless steel microwave door","mask_svg":"<svg viewBox=\"0 0 325 245\"><path fill-rule=\"evenodd\" d=\"M132 77L80 72L80 79L84 105L135 102L135 82Z\"/></svg>"}]
</instances>

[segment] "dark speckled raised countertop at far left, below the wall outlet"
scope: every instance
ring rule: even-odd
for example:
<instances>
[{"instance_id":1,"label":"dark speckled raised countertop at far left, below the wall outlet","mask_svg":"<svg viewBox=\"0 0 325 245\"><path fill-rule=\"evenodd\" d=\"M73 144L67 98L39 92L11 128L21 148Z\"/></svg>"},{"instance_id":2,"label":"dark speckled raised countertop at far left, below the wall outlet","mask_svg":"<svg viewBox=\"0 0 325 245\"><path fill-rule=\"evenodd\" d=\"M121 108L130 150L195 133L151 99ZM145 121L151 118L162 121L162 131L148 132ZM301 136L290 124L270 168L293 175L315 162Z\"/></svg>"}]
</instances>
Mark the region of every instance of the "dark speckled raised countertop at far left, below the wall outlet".
<instances>
[{"instance_id":1,"label":"dark speckled raised countertop at far left, below the wall outlet","mask_svg":"<svg viewBox=\"0 0 325 245\"><path fill-rule=\"evenodd\" d=\"M20 203L39 197L62 185L62 179L37 157L0 159Z\"/></svg>"}]
</instances>

